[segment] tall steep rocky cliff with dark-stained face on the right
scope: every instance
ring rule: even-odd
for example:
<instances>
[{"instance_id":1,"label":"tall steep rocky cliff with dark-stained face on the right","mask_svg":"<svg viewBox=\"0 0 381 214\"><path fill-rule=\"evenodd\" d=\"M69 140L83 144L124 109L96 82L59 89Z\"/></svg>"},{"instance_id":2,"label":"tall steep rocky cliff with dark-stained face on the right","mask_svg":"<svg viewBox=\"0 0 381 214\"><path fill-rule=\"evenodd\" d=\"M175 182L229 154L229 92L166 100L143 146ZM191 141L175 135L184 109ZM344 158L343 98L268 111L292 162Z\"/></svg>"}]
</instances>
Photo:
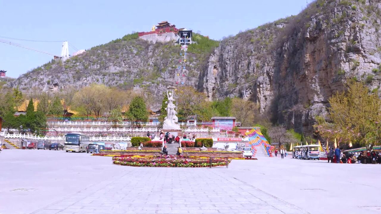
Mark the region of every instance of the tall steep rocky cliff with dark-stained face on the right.
<instances>
[{"instance_id":1,"label":"tall steep rocky cliff with dark-stained face on the right","mask_svg":"<svg viewBox=\"0 0 381 214\"><path fill-rule=\"evenodd\" d=\"M228 38L209 58L203 90L211 99L251 99L274 123L311 133L315 116L327 113L328 98L348 79L378 93L380 7L375 0L317 1Z\"/></svg>"}]
</instances>

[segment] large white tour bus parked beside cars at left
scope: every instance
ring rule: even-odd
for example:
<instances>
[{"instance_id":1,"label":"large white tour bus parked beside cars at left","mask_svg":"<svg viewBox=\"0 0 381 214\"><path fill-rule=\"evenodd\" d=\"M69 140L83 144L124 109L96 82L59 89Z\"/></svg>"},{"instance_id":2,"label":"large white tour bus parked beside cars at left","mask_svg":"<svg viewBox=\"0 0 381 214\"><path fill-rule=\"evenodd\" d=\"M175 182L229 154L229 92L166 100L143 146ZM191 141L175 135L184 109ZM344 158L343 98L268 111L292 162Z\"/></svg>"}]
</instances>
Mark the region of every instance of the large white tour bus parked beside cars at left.
<instances>
[{"instance_id":1,"label":"large white tour bus parked beside cars at left","mask_svg":"<svg viewBox=\"0 0 381 214\"><path fill-rule=\"evenodd\" d=\"M67 133L65 136L64 150L66 152L86 152L90 137L78 132Z\"/></svg>"}]
</instances>

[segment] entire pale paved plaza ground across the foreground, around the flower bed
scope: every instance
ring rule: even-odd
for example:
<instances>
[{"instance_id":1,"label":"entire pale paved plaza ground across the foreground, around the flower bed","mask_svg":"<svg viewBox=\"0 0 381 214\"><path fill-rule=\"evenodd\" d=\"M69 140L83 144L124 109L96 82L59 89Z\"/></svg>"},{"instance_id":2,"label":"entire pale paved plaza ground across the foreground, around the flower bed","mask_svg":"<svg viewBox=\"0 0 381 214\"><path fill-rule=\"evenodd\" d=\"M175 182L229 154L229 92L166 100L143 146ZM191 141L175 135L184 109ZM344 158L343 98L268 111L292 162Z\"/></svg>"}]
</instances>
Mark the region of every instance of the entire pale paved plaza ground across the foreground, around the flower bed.
<instances>
[{"instance_id":1,"label":"entire pale paved plaza ground across the foreground, around the flower bed","mask_svg":"<svg viewBox=\"0 0 381 214\"><path fill-rule=\"evenodd\" d=\"M138 168L49 150L0 153L0 214L380 213L381 164L233 160Z\"/></svg>"}]
</instances>

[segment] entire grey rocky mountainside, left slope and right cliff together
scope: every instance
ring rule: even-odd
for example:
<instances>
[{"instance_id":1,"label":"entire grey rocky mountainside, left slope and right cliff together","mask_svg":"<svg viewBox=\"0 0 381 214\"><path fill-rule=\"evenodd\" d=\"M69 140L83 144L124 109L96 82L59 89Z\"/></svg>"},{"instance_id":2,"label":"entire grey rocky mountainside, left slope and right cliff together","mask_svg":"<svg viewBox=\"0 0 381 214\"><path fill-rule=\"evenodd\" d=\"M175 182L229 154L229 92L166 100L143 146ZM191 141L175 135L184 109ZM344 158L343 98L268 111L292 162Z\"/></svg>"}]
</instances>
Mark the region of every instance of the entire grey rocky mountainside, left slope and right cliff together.
<instances>
[{"instance_id":1,"label":"entire grey rocky mountainside, left slope and right cliff together","mask_svg":"<svg viewBox=\"0 0 381 214\"><path fill-rule=\"evenodd\" d=\"M179 46L171 42L116 40L43 65L12 84L59 91L96 82L149 90L160 100L166 86L184 82L210 99L250 99L274 123L308 133L348 79L378 93L380 8L379 0L317 0L296 16L224 39L211 54L191 53L187 62L179 62ZM176 70L182 64L186 69Z\"/></svg>"}]
</instances>

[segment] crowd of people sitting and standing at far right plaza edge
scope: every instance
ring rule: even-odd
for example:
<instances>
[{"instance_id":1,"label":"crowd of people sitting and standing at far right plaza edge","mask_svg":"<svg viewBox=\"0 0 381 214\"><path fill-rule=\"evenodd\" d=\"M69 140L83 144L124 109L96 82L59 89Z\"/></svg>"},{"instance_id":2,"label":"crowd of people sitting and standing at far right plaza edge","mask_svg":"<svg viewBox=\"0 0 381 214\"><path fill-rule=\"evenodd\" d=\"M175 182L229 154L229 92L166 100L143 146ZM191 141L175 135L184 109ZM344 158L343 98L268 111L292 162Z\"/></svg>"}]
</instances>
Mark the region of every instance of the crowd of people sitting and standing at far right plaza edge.
<instances>
[{"instance_id":1,"label":"crowd of people sitting and standing at far right plaza edge","mask_svg":"<svg viewBox=\"0 0 381 214\"><path fill-rule=\"evenodd\" d=\"M360 154L356 157L355 154L344 152L341 153L340 148L333 149L331 148L329 152L327 152L328 163L363 163L363 164L381 164L381 153L375 151L368 152L360 152Z\"/></svg>"}]
</instances>

